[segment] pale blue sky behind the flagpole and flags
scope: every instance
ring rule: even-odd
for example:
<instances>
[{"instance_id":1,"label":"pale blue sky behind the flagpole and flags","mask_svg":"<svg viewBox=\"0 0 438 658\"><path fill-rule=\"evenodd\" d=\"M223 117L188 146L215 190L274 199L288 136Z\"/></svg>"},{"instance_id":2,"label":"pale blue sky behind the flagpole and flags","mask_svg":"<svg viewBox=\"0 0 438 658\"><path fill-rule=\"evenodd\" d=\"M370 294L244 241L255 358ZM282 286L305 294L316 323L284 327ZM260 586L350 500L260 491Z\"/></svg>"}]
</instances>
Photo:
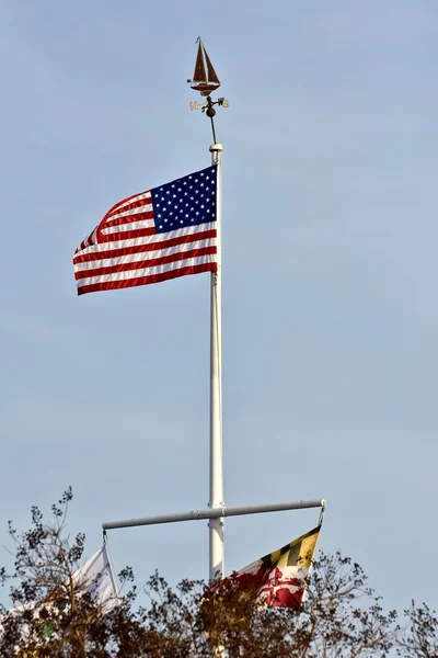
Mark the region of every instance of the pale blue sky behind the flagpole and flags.
<instances>
[{"instance_id":1,"label":"pale blue sky behind the flagpole and flags","mask_svg":"<svg viewBox=\"0 0 438 658\"><path fill-rule=\"evenodd\" d=\"M226 502L324 497L321 547L437 605L438 9L431 0L0 7L0 544L72 485L72 533L205 507L208 275L78 298L118 200L223 143ZM227 522L227 570L316 510ZM207 576L204 522L113 531L139 583ZM3 551L0 560L7 561Z\"/></svg>"}]
</instances>

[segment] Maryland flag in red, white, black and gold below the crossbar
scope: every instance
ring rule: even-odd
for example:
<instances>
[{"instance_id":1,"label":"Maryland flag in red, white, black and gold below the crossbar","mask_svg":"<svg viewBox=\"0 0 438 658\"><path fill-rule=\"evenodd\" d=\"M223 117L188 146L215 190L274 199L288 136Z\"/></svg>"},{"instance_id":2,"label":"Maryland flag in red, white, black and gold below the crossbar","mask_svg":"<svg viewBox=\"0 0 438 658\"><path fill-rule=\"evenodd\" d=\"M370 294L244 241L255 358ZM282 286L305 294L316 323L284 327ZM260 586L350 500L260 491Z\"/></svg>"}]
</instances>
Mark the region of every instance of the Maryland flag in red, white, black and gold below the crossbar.
<instances>
[{"instance_id":1,"label":"Maryland flag in red, white, black and gold below the crossbar","mask_svg":"<svg viewBox=\"0 0 438 658\"><path fill-rule=\"evenodd\" d=\"M321 525L283 548L256 559L223 581L242 590L256 591L256 599L268 608L299 608L315 552Z\"/></svg>"}]
</instances>

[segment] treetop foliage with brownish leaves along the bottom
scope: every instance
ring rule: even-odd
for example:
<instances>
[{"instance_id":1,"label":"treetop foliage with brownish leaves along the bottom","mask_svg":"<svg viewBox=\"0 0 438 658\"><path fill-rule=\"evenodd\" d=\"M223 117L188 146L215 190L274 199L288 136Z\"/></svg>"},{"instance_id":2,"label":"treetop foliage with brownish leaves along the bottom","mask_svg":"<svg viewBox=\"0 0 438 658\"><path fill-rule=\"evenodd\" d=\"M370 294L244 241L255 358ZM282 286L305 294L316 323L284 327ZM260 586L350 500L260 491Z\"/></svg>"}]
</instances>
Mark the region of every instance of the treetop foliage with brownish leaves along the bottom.
<instances>
[{"instance_id":1,"label":"treetop foliage with brownish leaves along the bottom","mask_svg":"<svg viewBox=\"0 0 438 658\"><path fill-rule=\"evenodd\" d=\"M128 587L103 609L74 574L85 536L67 533L71 488L45 521L37 507L31 527L12 523L14 568L0 569L11 606L0 605L0 656L5 658L438 658L438 619L426 604L385 611L364 569L341 553L320 553L302 606L261 608L251 586L182 580L172 588L158 572L143 586L148 605Z\"/></svg>"}]
</instances>

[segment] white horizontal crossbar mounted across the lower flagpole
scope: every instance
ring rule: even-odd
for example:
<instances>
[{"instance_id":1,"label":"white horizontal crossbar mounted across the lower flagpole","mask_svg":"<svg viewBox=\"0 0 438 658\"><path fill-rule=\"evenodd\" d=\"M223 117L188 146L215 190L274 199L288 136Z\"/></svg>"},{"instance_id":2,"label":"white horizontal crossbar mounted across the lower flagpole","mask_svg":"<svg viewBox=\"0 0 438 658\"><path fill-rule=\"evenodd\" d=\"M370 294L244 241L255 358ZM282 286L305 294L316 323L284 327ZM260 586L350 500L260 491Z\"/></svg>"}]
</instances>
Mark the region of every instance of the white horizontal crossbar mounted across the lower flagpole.
<instances>
[{"instance_id":1,"label":"white horizontal crossbar mounted across the lower flagpole","mask_svg":"<svg viewBox=\"0 0 438 658\"><path fill-rule=\"evenodd\" d=\"M102 523L103 530L117 527L135 527L138 525L158 525L159 523L177 523L180 521L200 521L203 519L221 519L222 517L243 517L244 514L263 514L266 512L285 512L287 510L306 510L325 508L323 498L311 498L292 502L273 502L267 504L241 504L235 507L217 507L174 514L159 514L143 519L127 519L126 521L107 521Z\"/></svg>"}]
</instances>

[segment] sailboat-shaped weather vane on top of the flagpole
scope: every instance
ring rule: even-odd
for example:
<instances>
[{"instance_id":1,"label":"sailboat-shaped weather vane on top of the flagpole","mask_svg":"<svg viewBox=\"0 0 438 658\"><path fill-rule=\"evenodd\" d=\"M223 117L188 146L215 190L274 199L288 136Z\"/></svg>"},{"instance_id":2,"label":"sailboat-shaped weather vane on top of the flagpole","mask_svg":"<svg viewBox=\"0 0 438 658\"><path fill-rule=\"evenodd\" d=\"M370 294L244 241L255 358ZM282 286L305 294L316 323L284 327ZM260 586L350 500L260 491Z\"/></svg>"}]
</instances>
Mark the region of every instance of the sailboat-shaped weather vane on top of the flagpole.
<instances>
[{"instance_id":1,"label":"sailboat-shaped weather vane on top of the flagpole","mask_svg":"<svg viewBox=\"0 0 438 658\"><path fill-rule=\"evenodd\" d=\"M207 114L211 121L212 138L216 144L216 131L214 117L216 115L215 105L222 107L229 107L230 101L228 99L219 98L214 101L210 93L219 89L220 80L214 69L210 58L207 55L207 50L204 47L200 36L196 39L198 44L198 53L196 56L195 71L193 73L193 80L187 80L192 89L199 91L200 95L206 97L205 103L191 102L191 110L201 110Z\"/></svg>"}]
</instances>

